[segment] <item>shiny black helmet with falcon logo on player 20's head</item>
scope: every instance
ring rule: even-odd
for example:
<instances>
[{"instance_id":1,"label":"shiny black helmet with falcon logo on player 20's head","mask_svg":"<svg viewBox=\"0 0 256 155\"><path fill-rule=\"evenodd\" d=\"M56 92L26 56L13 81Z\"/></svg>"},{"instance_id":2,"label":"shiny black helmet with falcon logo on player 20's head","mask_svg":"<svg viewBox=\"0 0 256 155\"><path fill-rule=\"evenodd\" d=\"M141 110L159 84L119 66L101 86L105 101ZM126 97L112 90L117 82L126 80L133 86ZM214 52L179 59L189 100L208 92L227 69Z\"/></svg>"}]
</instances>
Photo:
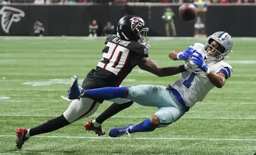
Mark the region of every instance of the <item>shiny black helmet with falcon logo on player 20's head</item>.
<instances>
[{"instance_id":1,"label":"shiny black helmet with falcon logo on player 20's head","mask_svg":"<svg viewBox=\"0 0 256 155\"><path fill-rule=\"evenodd\" d=\"M146 39L145 45L147 45L149 39L147 37L148 31L149 28L146 27L145 21L135 15L126 15L117 24L117 36L140 43L143 43L143 40Z\"/></svg>"}]
</instances>

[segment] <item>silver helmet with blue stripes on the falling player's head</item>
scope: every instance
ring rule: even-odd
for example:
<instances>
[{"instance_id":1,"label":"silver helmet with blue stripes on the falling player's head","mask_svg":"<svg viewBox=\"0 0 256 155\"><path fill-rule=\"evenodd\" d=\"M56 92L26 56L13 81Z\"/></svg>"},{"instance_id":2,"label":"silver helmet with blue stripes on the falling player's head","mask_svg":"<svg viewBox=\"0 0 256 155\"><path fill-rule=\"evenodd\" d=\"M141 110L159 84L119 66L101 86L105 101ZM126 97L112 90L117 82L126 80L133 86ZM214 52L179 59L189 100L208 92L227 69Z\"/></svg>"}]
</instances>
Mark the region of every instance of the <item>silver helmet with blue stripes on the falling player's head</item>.
<instances>
[{"instance_id":1,"label":"silver helmet with blue stripes on the falling player's head","mask_svg":"<svg viewBox=\"0 0 256 155\"><path fill-rule=\"evenodd\" d=\"M215 32L204 45L208 60L223 60L233 47L231 36L226 32Z\"/></svg>"}]
</instances>

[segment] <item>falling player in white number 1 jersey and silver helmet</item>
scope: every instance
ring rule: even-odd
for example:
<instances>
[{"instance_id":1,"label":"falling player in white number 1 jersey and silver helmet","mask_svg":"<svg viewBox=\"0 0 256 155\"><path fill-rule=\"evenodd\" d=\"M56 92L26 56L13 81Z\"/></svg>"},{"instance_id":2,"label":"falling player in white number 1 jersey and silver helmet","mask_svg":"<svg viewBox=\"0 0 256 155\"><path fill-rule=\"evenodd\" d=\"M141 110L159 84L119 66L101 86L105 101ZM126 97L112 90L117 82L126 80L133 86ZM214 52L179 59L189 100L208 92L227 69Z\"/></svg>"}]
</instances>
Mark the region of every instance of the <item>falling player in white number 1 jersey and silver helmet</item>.
<instances>
[{"instance_id":1,"label":"falling player in white number 1 jersey and silver helmet","mask_svg":"<svg viewBox=\"0 0 256 155\"><path fill-rule=\"evenodd\" d=\"M159 85L136 85L129 87L105 87L81 91L77 83L70 85L69 98L127 98L142 106L159 108L149 119L138 125L127 125L109 130L109 136L119 137L134 132L149 132L157 127L166 127L177 121L202 101L213 88L221 88L233 72L232 67L223 62L232 49L231 36L226 32L216 32L209 36L205 45L194 43L184 52L173 51L172 60L186 60L188 69L179 79L165 87ZM72 77L73 78L73 77ZM81 93L84 92L84 93Z\"/></svg>"}]
</instances>

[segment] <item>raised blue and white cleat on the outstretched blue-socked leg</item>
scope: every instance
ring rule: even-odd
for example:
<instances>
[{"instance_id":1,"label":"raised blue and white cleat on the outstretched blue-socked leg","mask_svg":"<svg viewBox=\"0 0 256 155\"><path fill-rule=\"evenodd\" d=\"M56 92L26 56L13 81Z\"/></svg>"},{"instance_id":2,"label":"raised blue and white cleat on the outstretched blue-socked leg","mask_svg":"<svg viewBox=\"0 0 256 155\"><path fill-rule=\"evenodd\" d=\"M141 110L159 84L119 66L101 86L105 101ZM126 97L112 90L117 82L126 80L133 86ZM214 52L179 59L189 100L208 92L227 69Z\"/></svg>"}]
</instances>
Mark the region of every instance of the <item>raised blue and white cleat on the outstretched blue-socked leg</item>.
<instances>
[{"instance_id":1,"label":"raised blue and white cleat on the outstretched blue-socked leg","mask_svg":"<svg viewBox=\"0 0 256 155\"><path fill-rule=\"evenodd\" d=\"M75 100L83 96L84 89L78 85L78 77L72 76L69 80L68 99Z\"/></svg>"}]
</instances>

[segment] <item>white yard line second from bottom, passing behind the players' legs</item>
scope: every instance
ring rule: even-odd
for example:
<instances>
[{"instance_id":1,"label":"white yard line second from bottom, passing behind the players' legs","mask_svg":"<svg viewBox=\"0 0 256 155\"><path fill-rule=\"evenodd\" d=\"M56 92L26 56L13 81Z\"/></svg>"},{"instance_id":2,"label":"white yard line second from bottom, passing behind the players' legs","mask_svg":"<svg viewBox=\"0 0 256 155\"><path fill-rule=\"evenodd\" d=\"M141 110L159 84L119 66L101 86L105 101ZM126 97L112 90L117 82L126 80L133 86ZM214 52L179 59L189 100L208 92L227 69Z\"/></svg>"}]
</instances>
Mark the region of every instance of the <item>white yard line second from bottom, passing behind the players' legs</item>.
<instances>
[{"instance_id":1,"label":"white yard line second from bottom, passing behind the players' legs","mask_svg":"<svg viewBox=\"0 0 256 155\"><path fill-rule=\"evenodd\" d=\"M60 115L15 115L15 114L0 114L0 116L8 117L58 117ZM90 117L97 117L95 115ZM112 116L111 118L149 118L151 116ZM254 117L181 117L181 119L256 119Z\"/></svg>"}]
</instances>

